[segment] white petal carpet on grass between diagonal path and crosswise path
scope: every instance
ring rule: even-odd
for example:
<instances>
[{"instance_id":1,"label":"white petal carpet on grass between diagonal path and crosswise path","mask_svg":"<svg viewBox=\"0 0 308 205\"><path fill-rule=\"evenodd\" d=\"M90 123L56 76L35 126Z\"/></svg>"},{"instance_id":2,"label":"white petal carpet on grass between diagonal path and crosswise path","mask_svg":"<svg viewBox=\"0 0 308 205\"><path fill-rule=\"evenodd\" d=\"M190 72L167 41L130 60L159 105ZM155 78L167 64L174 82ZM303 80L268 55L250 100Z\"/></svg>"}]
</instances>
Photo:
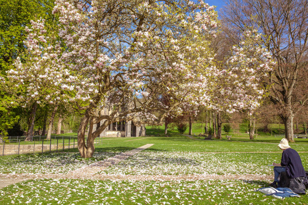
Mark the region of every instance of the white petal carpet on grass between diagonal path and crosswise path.
<instances>
[{"instance_id":1,"label":"white petal carpet on grass between diagonal path and crosswise path","mask_svg":"<svg viewBox=\"0 0 308 205\"><path fill-rule=\"evenodd\" d=\"M270 167L261 165L264 164L264 159L257 160L256 156L248 154L251 156L249 159L239 160L241 156L242 154L236 153L141 152L110 169L105 169L103 173L170 176L267 176L272 173Z\"/></svg>"}]
</instances>

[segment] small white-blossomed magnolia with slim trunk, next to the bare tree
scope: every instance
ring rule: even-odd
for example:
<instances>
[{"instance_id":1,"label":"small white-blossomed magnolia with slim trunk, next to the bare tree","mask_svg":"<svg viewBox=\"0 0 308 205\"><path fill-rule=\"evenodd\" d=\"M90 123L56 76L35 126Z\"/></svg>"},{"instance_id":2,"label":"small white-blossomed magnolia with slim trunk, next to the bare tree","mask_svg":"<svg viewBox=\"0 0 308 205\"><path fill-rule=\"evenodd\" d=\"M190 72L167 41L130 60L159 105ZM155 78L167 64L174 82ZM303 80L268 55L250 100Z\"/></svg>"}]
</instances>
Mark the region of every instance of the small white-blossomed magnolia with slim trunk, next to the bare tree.
<instances>
[{"instance_id":1,"label":"small white-blossomed magnolia with slim trunk, next to the bare tree","mask_svg":"<svg viewBox=\"0 0 308 205\"><path fill-rule=\"evenodd\" d=\"M233 113L247 111L250 120L250 138L254 135L254 112L268 94L262 82L268 78L275 62L262 44L257 29L246 29L239 45L220 70L220 80L211 107L216 111Z\"/></svg>"}]
</instances>

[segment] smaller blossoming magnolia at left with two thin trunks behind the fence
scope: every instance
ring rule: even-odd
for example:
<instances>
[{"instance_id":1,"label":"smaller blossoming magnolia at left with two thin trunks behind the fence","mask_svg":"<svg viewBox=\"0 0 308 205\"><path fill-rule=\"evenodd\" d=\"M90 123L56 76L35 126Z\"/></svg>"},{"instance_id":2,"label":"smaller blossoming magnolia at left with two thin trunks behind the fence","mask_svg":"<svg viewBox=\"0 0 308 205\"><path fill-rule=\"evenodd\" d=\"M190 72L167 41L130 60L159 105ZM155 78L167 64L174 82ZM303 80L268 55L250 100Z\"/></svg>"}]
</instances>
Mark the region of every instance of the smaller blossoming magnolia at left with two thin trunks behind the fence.
<instances>
[{"instance_id":1,"label":"smaller blossoming magnolia at left with two thin trunks behind the fence","mask_svg":"<svg viewBox=\"0 0 308 205\"><path fill-rule=\"evenodd\" d=\"M55 28L53 28L55 29ZM26 140L31 140L34 128L34 118L38 105L55 105L47 138L51 137L52 122L57 105L64 100L62 93L62 79L68 74L67 69L55 65L59 63L62 46L57 40L56 30L48 31L44 27L44 20L31 20L31 29L28 32L25 46L27 52L23 53L14 62L16 69L8 70L6 87L18 95L12 105L20 103L23 107L32 106L30 126Z\"/></svg>"}]
</instances>

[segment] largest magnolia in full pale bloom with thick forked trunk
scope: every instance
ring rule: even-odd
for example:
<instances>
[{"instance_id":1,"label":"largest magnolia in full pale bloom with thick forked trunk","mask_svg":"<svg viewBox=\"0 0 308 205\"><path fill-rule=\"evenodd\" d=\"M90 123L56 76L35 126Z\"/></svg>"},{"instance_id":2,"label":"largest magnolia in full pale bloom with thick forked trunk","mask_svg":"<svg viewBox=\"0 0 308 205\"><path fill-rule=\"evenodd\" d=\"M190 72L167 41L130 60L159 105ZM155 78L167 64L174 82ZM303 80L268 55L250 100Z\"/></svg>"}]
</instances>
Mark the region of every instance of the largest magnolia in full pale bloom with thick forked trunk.
<instances>
[{"instance_id":1,"label":"largest magnolia in full pale bloom with thick forked trunk","mask_svg":"<svg viewBox=\"0 0 308 205\"><path fill-rule=\"evenodd\" d=\"M162 123L171 112L180 113L183 104L194 107L212 103L216 81L226 74L218 72L212 64L214 53L209 45L215 37L217 13L207 3L55 3L53 12L59 17L57 35L61 41L48 43L47 36L43 37L34 26L29 30L28 51L36 56L18 62L10 73L17 86L25 81L32 83L27 91L32 92L29 98L40 96L40 100L53 103L67 102L84 111L77 133L82 157L92 156L94 139L109 124L136 121L140 117L145 122ZM42 21L38 25L42 27ZM36 40L31 41L31 36L36 36ZM45 44L31 46L33 41ZM46 63L40 64L43 61ZM240 83L242 79L235 76L235 71L231 74ZM23 79L26 76L34 77ZM45 85L48 90L38 87L36 81L50 81ZM227 83L232 83L231 79ZM168 105L162 103L163 94L172 96ZM229 102L234 104L234 100L226 104ZM105 107L112 107L112 113L105 115ZM161 111L162 115L157 118L153 110ZM94 130L94 124L99 122Z\"/></svg>"}]
</instances>

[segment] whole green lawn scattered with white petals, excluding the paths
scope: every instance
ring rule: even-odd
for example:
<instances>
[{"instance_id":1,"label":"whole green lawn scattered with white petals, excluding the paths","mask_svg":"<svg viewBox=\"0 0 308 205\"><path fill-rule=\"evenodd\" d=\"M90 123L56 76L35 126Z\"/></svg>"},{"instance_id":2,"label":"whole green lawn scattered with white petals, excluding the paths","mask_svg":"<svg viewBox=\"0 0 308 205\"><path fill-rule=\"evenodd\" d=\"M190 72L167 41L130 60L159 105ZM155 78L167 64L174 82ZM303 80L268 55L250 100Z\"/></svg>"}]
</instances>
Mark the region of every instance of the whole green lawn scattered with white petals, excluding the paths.
<instances>
[{"instance_id":1,"label":"whole green lawn scattered with white petals, excluding the paths","mask_svg":"<svg viewBox=\"0 0 308 205\"><path fill-rule=\"evenodd\" d=\"M147 128L149 133L161 129ZM270 176L279 162L280 138L233 136L223 139L195 139L175 133L170 137L103 138L91 159L70 152L21 154L0 157L0 176L25 174L68 174L120 152L146 143L151 148L113 165L99 174L136 176L137 180L26 180L0 190L0 204L308 204L307 195L285 200L266 196L257 189L270 180L238 180L236 176ZM308 169L308 139L291 143ZM234 176L224 180L200 180L198 176ZM146 176L195 176L195 180L144 180Z\"/></svg>"}]
</instances>

